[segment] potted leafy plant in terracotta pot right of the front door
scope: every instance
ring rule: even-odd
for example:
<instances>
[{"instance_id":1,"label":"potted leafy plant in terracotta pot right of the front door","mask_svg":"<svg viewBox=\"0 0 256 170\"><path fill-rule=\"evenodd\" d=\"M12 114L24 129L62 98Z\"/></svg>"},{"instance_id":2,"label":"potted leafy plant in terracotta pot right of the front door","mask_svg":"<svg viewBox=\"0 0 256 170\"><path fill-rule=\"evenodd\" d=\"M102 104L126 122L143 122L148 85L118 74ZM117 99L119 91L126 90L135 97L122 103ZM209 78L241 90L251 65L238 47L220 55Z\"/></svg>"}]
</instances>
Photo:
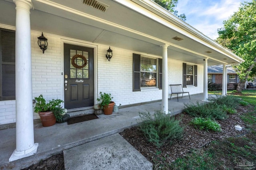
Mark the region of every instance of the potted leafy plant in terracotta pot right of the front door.
<instances>
[{"instance_id":1,"label":"potted leafy plant in terracotta pot right of the front door","mask_svg":"<svg viewBox=\"0 0 256 170\"><path fill-rule=\"evenodd\" d=\"M101 102L100 105L103 107L103 112L105 115L111 115L113 112L113 108L115 105L115 102L111 101L113 97L111 97L111 94L102 93L100 92L100 98L97 98L98 102Z\"/></svg>"}]
</instances>

